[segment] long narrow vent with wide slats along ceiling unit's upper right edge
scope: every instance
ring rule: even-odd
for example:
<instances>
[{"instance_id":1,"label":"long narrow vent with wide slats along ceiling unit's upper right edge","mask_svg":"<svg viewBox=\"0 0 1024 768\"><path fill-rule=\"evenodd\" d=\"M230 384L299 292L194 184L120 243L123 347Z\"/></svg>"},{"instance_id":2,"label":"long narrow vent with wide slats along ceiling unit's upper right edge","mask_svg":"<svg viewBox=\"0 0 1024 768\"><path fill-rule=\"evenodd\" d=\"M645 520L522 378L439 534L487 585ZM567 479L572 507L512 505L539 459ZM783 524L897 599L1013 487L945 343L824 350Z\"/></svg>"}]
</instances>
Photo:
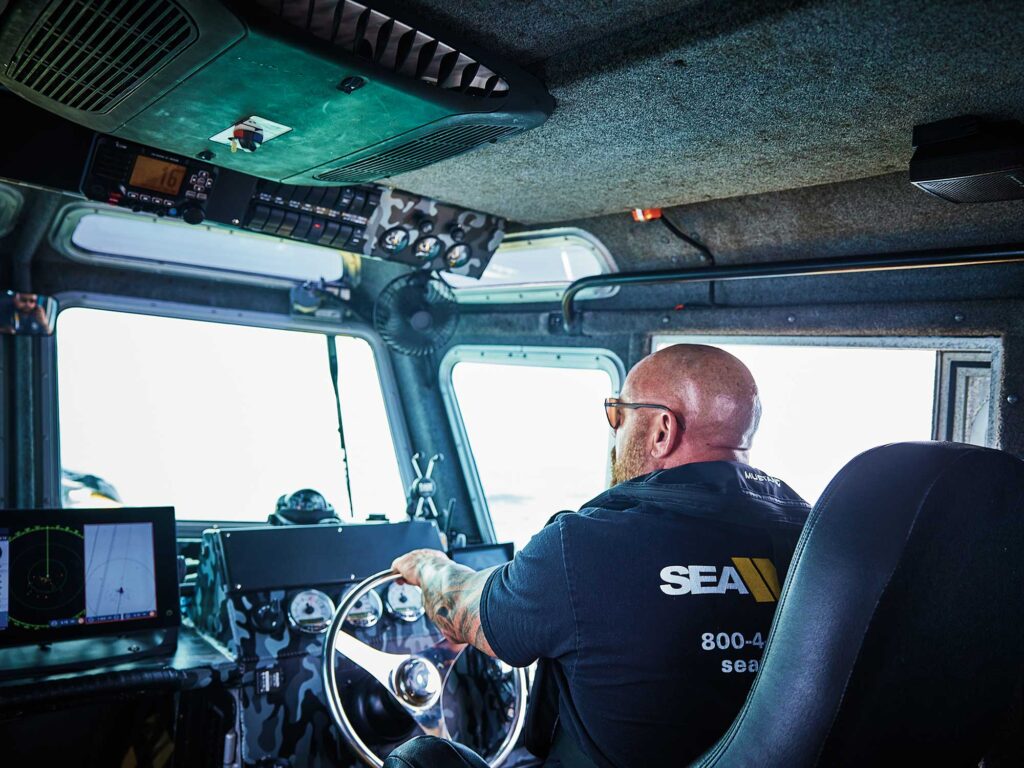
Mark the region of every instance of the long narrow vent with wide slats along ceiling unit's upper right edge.
<instances>
[{"instance_id":1,"label":"long narrow vent with wide slats along ceiling unit's upper right edge","mask_svg":"<svg viewBox=\"0 0 1024 768\"><path fill-rule=\"evenodd\" d=\"M471 96L505 96L509 84L471 56L352 0L256 0L263 9L391 72Z\"/></svg>"}]
</instances>

